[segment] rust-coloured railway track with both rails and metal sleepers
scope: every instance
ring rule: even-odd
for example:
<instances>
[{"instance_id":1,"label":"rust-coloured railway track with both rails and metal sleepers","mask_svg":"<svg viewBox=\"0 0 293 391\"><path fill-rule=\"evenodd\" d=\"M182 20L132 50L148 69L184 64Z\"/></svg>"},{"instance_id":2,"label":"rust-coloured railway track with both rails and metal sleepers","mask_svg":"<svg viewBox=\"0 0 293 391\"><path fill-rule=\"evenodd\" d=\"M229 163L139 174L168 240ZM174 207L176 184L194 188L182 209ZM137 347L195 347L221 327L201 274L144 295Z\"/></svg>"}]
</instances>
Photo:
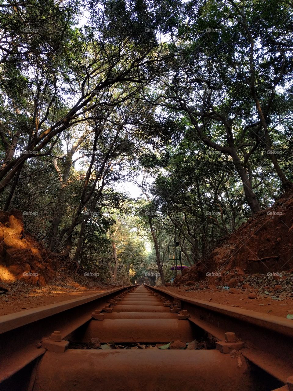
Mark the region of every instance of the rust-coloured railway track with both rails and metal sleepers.
<instances>
[{"instance_id":1,"label":"rust-coloured railway track with both rails and metal sleepers","mask_svg":"<svg viewBox=\"0 0 293 391\"><path fill-rule=\"evenodd\" d=\"M293 390L288 319L158 287L92 296L0 317L1 391Z\"/></svg>"}]
</instances>

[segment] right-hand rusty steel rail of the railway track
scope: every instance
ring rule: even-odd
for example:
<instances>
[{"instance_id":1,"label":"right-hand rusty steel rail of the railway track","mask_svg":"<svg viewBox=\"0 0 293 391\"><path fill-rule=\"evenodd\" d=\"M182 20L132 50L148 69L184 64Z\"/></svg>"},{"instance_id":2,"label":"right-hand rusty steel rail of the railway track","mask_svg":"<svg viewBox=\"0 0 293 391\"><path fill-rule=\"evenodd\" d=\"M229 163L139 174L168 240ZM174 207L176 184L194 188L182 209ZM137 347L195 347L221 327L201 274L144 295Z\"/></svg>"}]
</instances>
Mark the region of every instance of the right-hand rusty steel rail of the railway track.
<instances>
[{"instance_id":1,"label":"right-hand rusty steel rail of the railway track","mask_svg":"<svg viewBox=\"0 0 293 391\"><path fill-rule=\"evenodd\" d=\"M188 310L189 321L225 341L234 332L245 342L242 355L284 384L293 374L293 321L261 312L230 307L179 295L164 287L151 287Z\"/></svg>"}]
</instances>

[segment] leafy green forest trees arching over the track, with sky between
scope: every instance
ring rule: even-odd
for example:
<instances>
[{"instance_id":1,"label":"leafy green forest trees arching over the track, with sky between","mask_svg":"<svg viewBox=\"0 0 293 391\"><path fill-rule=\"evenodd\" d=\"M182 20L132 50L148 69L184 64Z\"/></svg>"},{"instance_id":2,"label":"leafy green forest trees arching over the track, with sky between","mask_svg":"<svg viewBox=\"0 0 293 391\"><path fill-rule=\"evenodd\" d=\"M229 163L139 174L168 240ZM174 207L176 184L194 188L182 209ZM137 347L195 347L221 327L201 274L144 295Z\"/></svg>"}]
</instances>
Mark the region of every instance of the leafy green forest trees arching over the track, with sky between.
<instances>
[{"instance_id":1,"label":"leafy green forest trees arching over the track, with sky between","mask_svg":"<svg viewBox=\"0 0 293 391\"><path fill-rule=\"evenodd\" d=\"M175 227L204 262L292 187L290 1L2 1L0 25L0 208L75 272L164 285Z\"/></svg>"}]
</instances>

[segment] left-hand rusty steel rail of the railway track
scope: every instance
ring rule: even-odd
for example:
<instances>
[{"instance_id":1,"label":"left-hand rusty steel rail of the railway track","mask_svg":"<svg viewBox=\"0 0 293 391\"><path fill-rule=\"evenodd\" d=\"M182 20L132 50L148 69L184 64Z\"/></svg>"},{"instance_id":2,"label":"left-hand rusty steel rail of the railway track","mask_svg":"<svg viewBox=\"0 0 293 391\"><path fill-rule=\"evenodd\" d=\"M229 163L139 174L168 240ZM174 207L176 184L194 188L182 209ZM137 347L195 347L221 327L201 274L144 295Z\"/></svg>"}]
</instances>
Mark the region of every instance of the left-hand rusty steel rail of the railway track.
<instances>
[{"instance_id":1,"label":"left-hand rusty steel rail of the railway track","mask_svg":"<svg viewBox=\"0 0 293 391\"><path fill-rule=\"evenodd\" d=\"M90 321L93 310L129 287L0 316L0 384L46 352L38 347L43 337L59 330L65 338Z\"/></svg>"}]
</instances>

